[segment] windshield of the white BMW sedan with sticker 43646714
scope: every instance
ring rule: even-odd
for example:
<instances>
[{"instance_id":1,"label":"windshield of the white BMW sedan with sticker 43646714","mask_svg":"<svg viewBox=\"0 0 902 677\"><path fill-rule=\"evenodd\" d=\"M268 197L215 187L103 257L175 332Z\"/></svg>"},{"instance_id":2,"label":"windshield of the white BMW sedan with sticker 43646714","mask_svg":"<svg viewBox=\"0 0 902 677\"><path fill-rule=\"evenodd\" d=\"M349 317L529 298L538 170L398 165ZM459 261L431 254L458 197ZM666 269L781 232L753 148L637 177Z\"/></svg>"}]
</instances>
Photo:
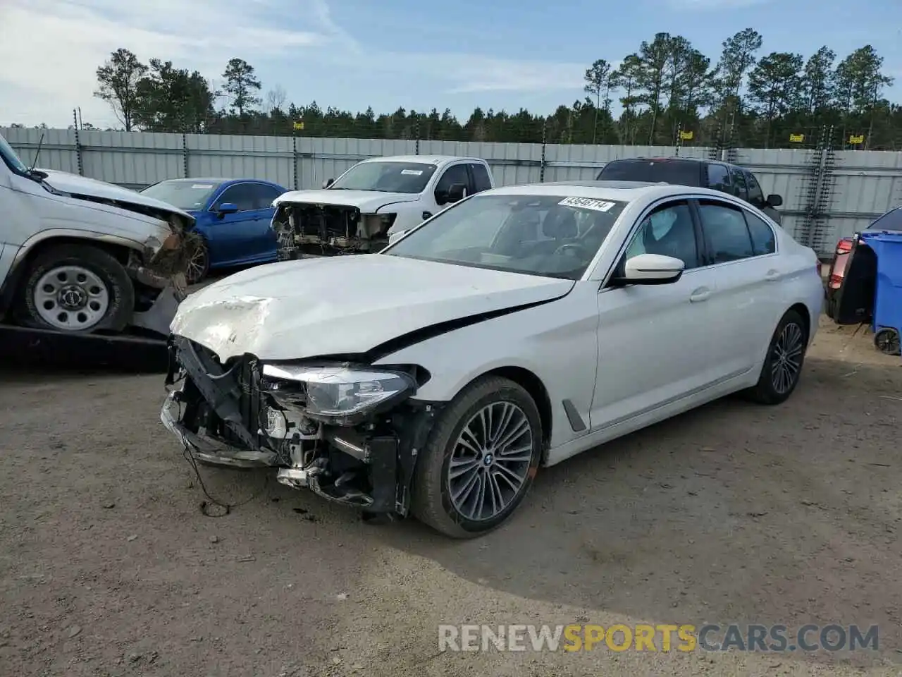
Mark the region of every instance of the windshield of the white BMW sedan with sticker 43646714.
<instances>
[{"instance_id":1,"label":"windshield of the white BMW sedan with sticker 43646714","mask_svg":"<svg viewBox=\"0 0 902 677\"><path fill-rule=\"evenodd\" d=\"M626 204L566 195L474 195L383 252L578 280Z\"/></svg>"}]
</instances>

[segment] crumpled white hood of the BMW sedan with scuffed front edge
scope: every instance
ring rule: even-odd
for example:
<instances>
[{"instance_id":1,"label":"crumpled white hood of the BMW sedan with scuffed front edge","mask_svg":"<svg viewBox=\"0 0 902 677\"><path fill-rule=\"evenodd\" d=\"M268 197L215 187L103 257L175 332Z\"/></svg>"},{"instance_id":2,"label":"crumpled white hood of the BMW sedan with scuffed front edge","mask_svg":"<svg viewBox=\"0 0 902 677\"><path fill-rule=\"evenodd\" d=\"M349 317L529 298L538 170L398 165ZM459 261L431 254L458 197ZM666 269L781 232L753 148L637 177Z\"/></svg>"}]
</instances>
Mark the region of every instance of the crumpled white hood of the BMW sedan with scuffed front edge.
<instances>
[{"instance_id":1,"label":"crumpled white hood of the BMW sedan with scuffed front edge","mask_svg":"<svg viewBox=\"0 0 902 677\"><path fill-rule=\"evenodd\" d=\"M449 320L553 301L569 280L400 256L324 256L257 266L192 293L170 329L220 360L364 353Z\"/></svg>"}]
</instances>

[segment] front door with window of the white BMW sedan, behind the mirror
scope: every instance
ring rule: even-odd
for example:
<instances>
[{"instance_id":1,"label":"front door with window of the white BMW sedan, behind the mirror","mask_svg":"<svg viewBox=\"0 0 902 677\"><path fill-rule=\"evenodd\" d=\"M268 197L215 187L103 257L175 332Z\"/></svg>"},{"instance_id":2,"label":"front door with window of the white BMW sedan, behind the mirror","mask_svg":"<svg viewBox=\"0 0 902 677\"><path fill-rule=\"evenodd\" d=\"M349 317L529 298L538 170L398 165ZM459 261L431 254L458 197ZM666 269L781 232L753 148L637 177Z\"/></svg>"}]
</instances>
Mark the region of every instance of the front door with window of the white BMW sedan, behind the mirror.
<instances>
[{"instance_id":1,"label":"front door with window of the white BMW sedan, behind the mirror","mask_svg":"<svg viewBox=\"0 0 902 677\"><path fill-rule=\"evenodd\" d=\"M689 200L667 200L641 217L618 265L646 253L676 256L686 268L676 283L608 286L598 294L594 430L700 393L715 378L708 355L718 339L706 328L716 290Z\"/></svg>"}]
</instances>

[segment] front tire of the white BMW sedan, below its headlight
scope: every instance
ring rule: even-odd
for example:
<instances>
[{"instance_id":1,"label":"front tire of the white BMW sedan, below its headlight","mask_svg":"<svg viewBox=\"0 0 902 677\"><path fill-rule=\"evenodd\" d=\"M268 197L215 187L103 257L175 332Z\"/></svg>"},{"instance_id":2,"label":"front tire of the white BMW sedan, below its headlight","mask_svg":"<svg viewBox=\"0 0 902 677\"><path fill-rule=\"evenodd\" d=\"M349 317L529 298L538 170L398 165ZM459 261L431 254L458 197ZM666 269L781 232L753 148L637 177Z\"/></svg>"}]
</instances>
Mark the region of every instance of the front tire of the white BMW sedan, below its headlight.
<instances>
[{"instance_id":1,"label":"front tire of the white BMW sedan, below its headlight","mask_svg":"<svg viewBox=\"0 0 902 677\"><path fill-rule=\"evenodd\" d=\"M494 441L503 440L504 430L511 431L510 427L502 427L502 413L505 412L510 414L508 421L511 426L521 426L523 432L500 447L487 445L487 453L480 457L459 445L458 438L465 434L468 424L474 426L471 430L481 431L476 417L490 407L495 417L490 426L490 430L494 431ZM511 431L509 434L515 433ZM471 450L479 446L478 434L468 439L473 443ZM452 538L474 538L492 531L507 520L529 492L542 455L542 439L538 407L522 386L500 376L486 376L474 381L439 414L427 444L419 451L411 492L411 512L420 522ZM513 442L522 445L522 453L511 454ZM501 453L496 456L495 451ZM450 478L452 459L459 462L459 455L464 453L470 458L457 470L468 469L458 477ZM514 460L514 457L520 460ZM468 495L462 488L473 477L476 478L472 480L476 483L474 491L478 492L480 482L485 482L486 478L492 478L492 485L499 488L498 493L485 495L492 496L493 505L492 510L487 510L481 517L474 510L476 496L472 492ZM505 478L510 478L510 481ZM518 481L515 482L514 478ZM452 487L464 500L454 499ZM488 500L484 507L490 507Z\"/></svg>"}]
</instances>

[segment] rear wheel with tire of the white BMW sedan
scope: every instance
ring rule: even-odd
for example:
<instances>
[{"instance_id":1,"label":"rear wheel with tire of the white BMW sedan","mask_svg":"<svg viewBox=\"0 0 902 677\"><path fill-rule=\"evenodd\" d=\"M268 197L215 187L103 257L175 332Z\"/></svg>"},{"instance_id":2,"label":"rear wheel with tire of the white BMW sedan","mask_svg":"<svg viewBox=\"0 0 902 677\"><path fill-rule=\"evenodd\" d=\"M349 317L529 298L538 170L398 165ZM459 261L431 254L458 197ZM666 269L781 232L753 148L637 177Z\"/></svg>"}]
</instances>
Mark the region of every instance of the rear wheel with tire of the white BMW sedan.
<instances>
[{"instance_id":1,"label":"rear wheel with tire of the white BMW sedan","mask_svg":"<svg viewBox=\"0 0 902 677\"><path fill-rule=\"evenodd\" d=\"M797 311L787 311L780 319L773 338L770 339L758 384L747 391L753 402L784 403L796 390L808 348L806 326L805 319ZM784 346L788 348L783 348ZM782 364L781 354L786 354Z\"/></svg>"}]
</instances>

